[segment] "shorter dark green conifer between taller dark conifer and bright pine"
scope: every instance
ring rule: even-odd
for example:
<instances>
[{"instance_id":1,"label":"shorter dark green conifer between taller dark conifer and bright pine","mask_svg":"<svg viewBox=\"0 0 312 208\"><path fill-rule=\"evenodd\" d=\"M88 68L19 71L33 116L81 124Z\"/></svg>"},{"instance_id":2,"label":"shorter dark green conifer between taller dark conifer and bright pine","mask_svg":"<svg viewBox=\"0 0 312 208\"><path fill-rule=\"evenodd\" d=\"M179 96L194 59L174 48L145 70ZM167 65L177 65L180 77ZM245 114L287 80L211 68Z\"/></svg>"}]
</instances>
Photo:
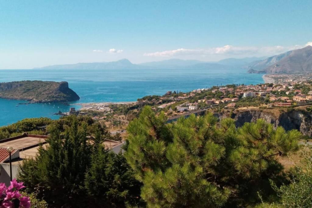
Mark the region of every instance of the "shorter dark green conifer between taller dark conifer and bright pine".
<instances>
[{"instance_id":1,"label":"shorter dark green conifer between taller dark conifer and bright pine","mask_svg":"<svg viewBox=\"0 0 312 208\"><path fill-rule=\"evenodd\" d=\"M92 153L91 166L85 176L85 187L92 206L124 207L142 204L141 183L124 156L108 152L99 145Z\"/></svg>"}]
</instances>

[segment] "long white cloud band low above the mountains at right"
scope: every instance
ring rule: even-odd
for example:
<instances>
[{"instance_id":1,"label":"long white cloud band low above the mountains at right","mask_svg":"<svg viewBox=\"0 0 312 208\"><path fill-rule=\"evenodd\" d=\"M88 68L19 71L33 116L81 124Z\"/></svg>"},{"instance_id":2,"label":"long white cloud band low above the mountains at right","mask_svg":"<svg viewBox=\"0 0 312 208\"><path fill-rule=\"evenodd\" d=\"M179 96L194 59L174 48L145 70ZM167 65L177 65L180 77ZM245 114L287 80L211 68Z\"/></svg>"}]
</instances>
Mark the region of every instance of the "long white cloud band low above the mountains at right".
<instances>
[{"instance_id":1,"label":"long white cloud band low above the mountains at right","mask_svg":"<svg viewBox=\"0 0 312 208\"><path fill-rule=\"evenodd\" d=\"M308 42L305 46L312 46L312 42ZM276 55L290 50L303 48L305 46L265 46L265 47L247 47L247 46L221 46L207 49L186 49L179 48L171 51L158 51L154 53L144 53L144 56L186 56L186 55L244 55L244 56L268 56Z\"/></svg>"}]
</instances>

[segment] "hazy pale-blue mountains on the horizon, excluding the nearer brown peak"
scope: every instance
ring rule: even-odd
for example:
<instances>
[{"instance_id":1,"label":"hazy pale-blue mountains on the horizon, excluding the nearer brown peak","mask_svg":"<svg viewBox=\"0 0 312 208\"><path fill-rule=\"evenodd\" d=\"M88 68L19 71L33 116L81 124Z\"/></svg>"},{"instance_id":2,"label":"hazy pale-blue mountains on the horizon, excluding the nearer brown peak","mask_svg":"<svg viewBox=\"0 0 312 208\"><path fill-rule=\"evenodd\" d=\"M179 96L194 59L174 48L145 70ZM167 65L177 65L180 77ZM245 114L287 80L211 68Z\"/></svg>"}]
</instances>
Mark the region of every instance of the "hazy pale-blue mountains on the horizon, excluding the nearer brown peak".
<instances>
[{"instance_id":1,"label":"hazy pale-blue mountains on the horizon, excluding the nearer brown peak","mask_svg":"<svg viewBox=\"0 0 312 208\"><path fill-rule=\"evenodd\" d=\"M118 69L118 70L136 70L136 69L237 69L241 68L254 60L262 58L243 58L243 59L223 59L217 62L204 62L199 60L181 60L169 59L163 61L146 62L142 64L133 64L128 59L121 59L111 62L78 63L65 65L51 65L37 69Z\"/></svg>"}]
</instances>

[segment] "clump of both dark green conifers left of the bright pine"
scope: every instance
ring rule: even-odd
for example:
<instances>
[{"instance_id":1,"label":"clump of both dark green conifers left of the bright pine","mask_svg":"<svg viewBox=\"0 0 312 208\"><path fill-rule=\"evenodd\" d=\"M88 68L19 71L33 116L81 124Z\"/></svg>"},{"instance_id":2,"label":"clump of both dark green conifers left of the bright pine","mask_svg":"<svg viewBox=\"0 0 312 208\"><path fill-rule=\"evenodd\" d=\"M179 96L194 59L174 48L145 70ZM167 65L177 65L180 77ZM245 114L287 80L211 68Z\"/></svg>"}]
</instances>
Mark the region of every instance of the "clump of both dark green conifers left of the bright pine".
<instances>
[{"instance_id":1,"label":"clump of both dark green conifers left of the bright pine","mask_svg":"<svg viewBox=\"0 0 312 208\"><path fill-rule=\"evenodd\" d=\"M65 128L58 124L49 128L48 145L20 167L18 178L28 191L52 207L137 204L140 183L121 154L105 150L103 129L88 129L90 125L75 117ZM87 132L94 133L94 141L87 139Z\"/></svg>"}]
</instances>

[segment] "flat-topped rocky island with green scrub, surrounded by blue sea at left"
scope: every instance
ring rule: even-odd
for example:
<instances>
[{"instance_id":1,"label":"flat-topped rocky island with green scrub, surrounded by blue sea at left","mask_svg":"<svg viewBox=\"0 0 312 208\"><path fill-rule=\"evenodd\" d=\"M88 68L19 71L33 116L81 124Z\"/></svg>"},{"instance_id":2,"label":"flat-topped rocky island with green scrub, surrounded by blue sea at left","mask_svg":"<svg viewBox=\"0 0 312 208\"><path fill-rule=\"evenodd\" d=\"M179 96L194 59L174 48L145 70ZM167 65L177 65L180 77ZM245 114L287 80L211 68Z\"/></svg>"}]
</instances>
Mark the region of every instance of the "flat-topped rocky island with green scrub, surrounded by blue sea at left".
<instances>
[{"instance_id":1,"label":"flat-topped rocky island with green scrub, surrounded by blue sea at left","mask_svg":"<svg viewBox=\"0 0 312 208\"><path fill-rule=\"evenodd\" d=\"M0 83L0 98L27 100L30 103L68 102L80 97L68 82L14 81Z\"/></svg>"}]
</instances>

